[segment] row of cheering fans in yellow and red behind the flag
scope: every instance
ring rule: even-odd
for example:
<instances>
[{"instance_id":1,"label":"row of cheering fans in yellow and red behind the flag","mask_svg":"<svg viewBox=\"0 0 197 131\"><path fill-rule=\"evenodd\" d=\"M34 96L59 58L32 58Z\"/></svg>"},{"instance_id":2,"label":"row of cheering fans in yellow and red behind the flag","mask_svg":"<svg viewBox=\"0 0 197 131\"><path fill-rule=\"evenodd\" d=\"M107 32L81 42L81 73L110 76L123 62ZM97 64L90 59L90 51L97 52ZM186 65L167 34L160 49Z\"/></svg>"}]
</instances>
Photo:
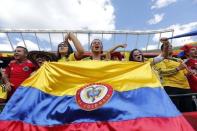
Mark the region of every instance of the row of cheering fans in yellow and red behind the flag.
<instances>
[{"instance_id":1,"label":"row of cheering fans in yellow and red behind the flag","mask_svg":"<svg viewBox=\"0 0 197 131\"><path fill-rule=\"evenodd\" d=\"M72 49L69 40L72 41L76 51ZM185 45L181 49L184 59L172 56L172 45L167 38L161 38L162 43L160 55L147 59L143 52L134 49L130 52L129 61L150 62L152 69L160 77L168 95L186 94L197 92L197 47ZM117 45L107 52L103 52L103 44L99 39L91 42L91 55L84 57L84 49L80 41L73 33L69 33L65 41L58 45L57 56L44 51L34 51L28 54L25 47L17 46L14 52L14 60L10 61L5 72L1 71L0 85L2 92L8 92L9 99L19 85L36 71L45 61L78 61L78 60L114 60L122 61L124 56L115 52L117 48L126 48L126 44ZM5 94L1 93L0 100L5 100ZM182 111L192 111L191 97L171 98L177 108Z\"/></svg>"}]
</instances>

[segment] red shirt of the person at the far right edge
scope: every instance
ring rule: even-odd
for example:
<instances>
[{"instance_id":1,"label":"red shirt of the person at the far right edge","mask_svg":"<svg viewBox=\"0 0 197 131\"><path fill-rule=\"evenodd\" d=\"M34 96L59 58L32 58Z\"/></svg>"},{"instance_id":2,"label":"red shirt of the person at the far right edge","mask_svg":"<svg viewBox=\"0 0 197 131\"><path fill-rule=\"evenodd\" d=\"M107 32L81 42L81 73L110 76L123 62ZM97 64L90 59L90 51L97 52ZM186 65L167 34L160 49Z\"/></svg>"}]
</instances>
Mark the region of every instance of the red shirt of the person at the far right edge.
<instances>
[{"instance_id":1,"label":"red shirt of the person at the far right edge","mask_svg":"<svg viewBox=\"0 0 197 131\"><path fill-rule=\"evenodd\" d=\"M196 59L189 59L186 61L186 65L191 70L197 70L197 60ZM197 92L197 76L188 75L187 76L190 88L193 92Z\"/></svg>"}]
</instances>

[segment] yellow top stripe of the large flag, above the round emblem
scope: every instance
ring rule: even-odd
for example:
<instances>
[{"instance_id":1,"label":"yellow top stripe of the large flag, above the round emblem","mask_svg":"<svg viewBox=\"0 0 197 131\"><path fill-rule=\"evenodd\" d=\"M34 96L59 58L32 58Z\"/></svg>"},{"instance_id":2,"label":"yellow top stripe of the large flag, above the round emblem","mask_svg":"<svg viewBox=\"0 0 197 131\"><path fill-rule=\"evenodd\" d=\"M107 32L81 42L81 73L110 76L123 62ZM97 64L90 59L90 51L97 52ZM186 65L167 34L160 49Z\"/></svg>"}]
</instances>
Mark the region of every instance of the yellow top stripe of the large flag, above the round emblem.
<instances>
[{"instance_id":1,"label":"yellow top stripe of the large flag, above the round emblem","mask_svg":"<svg viewBox=\"0 0 197 131\"><path fill-rule=\"evenodd\" d=\"M116 91L142 87L161 87L150 63L116 61L70 61L45 63L22 86L34 87L45 93L75 95L86 84L105 83Z\"/></svg>"}]
</instances>

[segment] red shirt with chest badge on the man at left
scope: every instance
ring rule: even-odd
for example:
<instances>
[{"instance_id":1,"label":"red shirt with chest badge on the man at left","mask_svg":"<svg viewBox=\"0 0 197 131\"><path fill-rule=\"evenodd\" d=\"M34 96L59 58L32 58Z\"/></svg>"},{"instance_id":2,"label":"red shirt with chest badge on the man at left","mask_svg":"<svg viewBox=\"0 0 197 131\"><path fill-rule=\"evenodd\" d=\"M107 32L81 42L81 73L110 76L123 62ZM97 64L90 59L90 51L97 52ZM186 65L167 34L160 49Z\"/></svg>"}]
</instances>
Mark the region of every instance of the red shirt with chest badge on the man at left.
<instances>
[{"instance_id":1,"label":"red shirt with chest badge on the man at left","mask_svg":"<svg viewBox=\"0 0 197 131\"><path fill-rule=\"evenodd\" d=\"M30 60L25 60L23 63L18 63L16 60L12 60L6 68L6 74L10 83L14 86L14 90L30 76L35 70L35 66Z\"/></svg>"}]
</instances>

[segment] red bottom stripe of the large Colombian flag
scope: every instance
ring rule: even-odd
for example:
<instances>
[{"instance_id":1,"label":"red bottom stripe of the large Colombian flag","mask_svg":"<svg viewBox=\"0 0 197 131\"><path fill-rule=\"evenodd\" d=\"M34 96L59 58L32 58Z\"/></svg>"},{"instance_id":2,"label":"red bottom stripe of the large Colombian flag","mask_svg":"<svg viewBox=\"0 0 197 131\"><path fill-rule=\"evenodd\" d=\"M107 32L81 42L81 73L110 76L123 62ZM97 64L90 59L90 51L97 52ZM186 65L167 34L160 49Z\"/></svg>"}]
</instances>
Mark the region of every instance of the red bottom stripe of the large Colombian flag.
<instances>
[{"instance_id":1,"label":"red bottom stripe of the large Colombian flag","mask_svg":"<svg viewBox=\"0 0 197 131\"><path fill-rule=\"evenodd\" d=\"M180 125L181 123L181 125ZM173 118L139 118L116 122L89 122L56 126L37 126L21 121L0 121L0 131L194 131L183 116Z\"/></svg>"}]
</instances>

